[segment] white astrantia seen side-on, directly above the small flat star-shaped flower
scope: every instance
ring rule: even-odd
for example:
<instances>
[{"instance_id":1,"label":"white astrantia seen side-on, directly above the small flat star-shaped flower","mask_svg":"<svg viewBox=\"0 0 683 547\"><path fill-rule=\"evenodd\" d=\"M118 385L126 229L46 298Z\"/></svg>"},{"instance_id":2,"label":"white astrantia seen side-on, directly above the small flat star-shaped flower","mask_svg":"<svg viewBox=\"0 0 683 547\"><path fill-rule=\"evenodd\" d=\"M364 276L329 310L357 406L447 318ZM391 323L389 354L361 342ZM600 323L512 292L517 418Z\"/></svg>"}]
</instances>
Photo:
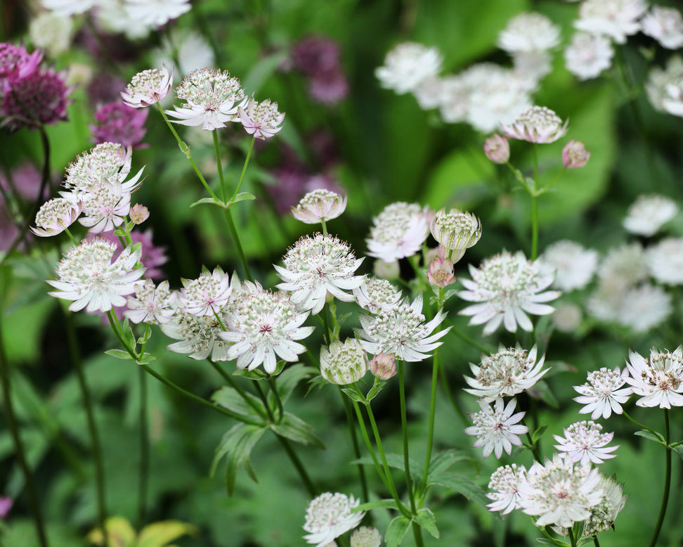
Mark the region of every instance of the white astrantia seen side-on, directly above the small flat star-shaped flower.
<instances>
[{"instance_id":1,"label":"white astrantia seen side-on, directly above the small flat star-shaped flower","mask_svg":"<svg viewBox=\"0 0 683 547\"><path fill-rule=\"evenodd\" d=\"M500 346L498 351L481 356L481 363L469 363L474 378L465 376L465 382L471 389L467 393L493 399L495 397L512 397L528 390L538 382L549 369L543 369L545 355L536 362L536 347L531 351Z\"/></svg>"}]
</instances>

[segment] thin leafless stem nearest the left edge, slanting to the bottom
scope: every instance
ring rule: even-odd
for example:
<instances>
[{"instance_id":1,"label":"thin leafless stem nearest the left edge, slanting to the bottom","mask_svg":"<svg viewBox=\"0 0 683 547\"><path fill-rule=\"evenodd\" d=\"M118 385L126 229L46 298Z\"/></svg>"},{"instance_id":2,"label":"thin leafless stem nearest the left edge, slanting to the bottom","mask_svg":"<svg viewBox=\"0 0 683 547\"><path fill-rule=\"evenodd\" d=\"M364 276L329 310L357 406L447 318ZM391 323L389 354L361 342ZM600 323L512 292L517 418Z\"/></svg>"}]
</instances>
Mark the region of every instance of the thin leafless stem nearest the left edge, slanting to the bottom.
<instances>
[{"instance_id":1,"label":"thin leafless stem nearest the left edge, slanting to the bottom","mask_svg":"<svg viewBox=\"0 0 683 547\"><path fill-rule=\"evenodd\" d=\"M12 435L14 443L14 451L19 463L19 467L24 475L26 483L26 493L29 498L31 512L33 513L34 524L36 527L36 534L41 547L48 547L47 534L45 533L45 525L43 520L43 512L40 508L40 501L36 485L33 482L33 474L31 468L26 460L26 453L24 445L19 435L19 428L17 427L17 420L14 415L14 408L12 403L12 387L9 377L9 361L5 354L5 345L2 340L2 316L4 312L0 311L0 382L2 383L2 403L5 410L5 419L7 427Z\"/></svg>"}]
</instances>

